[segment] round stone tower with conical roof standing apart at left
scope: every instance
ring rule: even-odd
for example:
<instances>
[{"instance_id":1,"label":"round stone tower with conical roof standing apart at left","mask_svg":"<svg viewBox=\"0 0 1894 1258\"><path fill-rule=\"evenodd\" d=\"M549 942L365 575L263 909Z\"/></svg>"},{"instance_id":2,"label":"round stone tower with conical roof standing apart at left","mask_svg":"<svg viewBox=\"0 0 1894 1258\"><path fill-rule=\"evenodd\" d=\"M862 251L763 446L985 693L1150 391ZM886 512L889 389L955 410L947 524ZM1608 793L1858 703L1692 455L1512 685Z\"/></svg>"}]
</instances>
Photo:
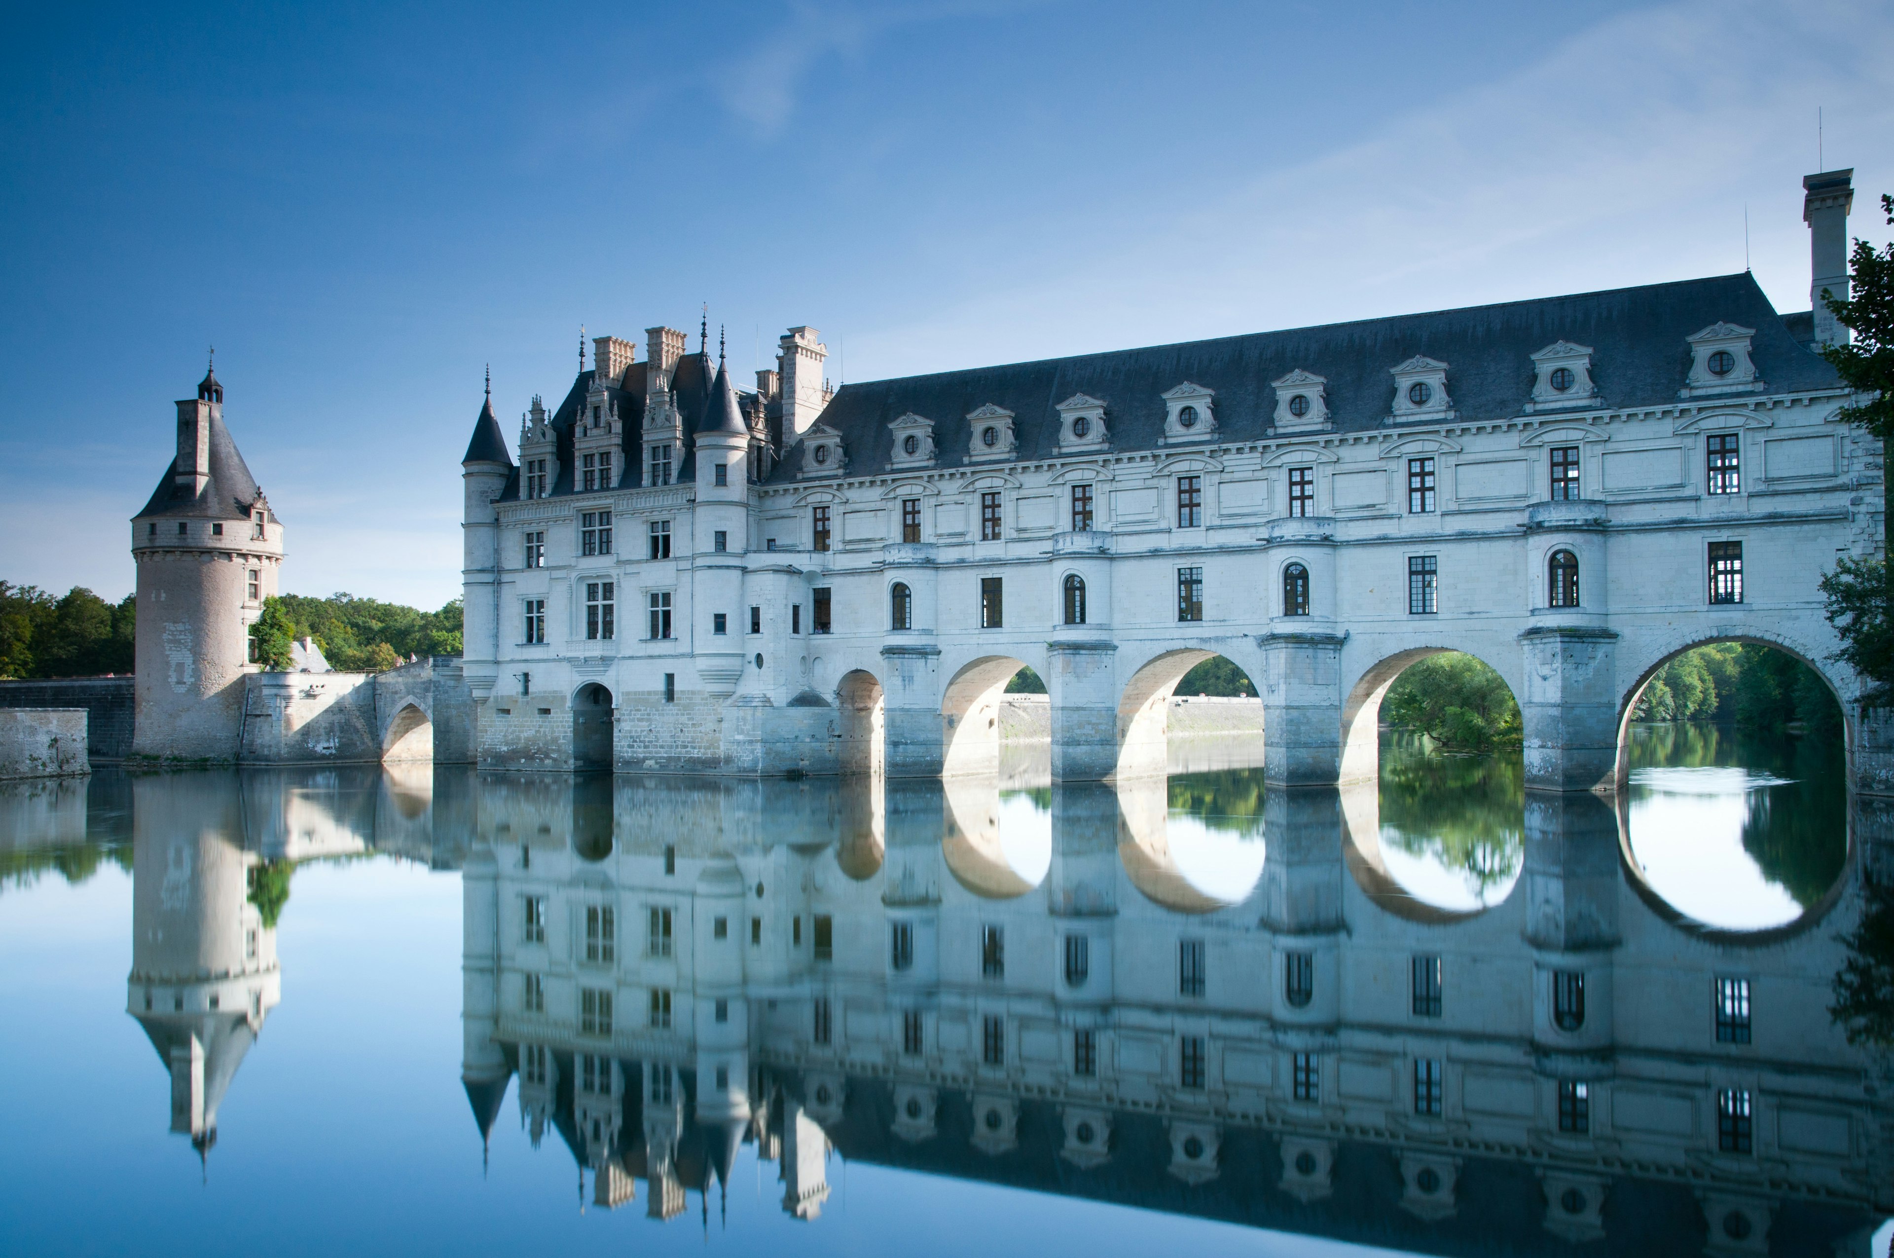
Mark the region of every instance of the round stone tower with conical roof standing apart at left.
<instances>
[{"instance_id":1,"label":"round stone tower with conical roof standing apart at left","mask_svg":"<svg viewBox=\"0 0 1894 1258\"><path fill-rule=\"evenodd\" d=\"M214 371L178 402L178 453L131 521L138 565L133 752L235 760L250 625L277 593L282 523L223 426Z\"/></svg>"}]
</instances>

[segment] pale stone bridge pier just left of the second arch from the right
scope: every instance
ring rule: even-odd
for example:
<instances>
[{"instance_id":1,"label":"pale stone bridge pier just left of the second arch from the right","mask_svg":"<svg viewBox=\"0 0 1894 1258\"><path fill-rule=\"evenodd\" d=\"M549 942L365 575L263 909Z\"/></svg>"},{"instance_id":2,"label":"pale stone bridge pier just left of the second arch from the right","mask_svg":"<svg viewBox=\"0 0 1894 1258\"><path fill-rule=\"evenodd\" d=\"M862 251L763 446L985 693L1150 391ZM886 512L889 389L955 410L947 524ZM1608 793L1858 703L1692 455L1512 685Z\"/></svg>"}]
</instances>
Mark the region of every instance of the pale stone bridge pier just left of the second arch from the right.
<instances>
[{"instance_id":1,"label":"pale stone bridge pier just left of the second arch from the right","mask_svg":"<svg viewBox=\"0 0 1894 1258\"><path fill-rule=\"evenodd\" d=\"M1263 781L1331 786L1341 779L1343 633L1269 633L1263 648Z\"/></svg>"}]
</instances>

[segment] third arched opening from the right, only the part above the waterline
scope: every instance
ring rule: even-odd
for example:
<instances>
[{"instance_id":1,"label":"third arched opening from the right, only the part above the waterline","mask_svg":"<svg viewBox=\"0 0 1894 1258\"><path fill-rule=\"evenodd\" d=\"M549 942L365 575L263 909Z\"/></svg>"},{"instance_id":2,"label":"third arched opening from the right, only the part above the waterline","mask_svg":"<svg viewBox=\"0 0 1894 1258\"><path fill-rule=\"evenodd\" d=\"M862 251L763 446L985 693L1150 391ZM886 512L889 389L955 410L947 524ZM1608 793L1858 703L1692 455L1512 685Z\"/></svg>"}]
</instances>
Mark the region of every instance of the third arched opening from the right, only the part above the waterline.
<instances>
[{"instance_id":1,"label":"third arched opening from the right, only the part above the waterline","mask_svg":"<svg viewBox=\"0 0 1894 1258\"><path fill-rule=\"evenodd\" d=\"M1178 648L1138 669L1117 699L1117 779L1261 765L1263 701L1218 652Z\"/></svg>"}]
</instances>

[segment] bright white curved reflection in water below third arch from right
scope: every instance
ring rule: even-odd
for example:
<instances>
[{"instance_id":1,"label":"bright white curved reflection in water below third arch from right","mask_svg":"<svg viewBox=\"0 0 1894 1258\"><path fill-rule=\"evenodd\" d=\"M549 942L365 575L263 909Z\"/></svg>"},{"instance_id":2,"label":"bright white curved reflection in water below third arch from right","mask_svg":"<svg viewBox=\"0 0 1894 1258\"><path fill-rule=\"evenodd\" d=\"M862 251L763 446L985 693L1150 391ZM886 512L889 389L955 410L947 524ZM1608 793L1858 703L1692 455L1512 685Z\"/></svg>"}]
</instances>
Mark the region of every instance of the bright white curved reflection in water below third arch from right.
<instances>
[{"instance_id":1,"label":"bright white curved reflection in water below third arch from right","mask_svg":"<svg viewBox=\"0 0 1894 1258\"><path fill-rule=\"evenodd\" d=\"M1146 900L1178 913L1216 913L1248 900L1263 877L1267 847L1254 836L1220 834L1195 817L1170 815L1165 779L1117 786L1117 858Z\"/></svg>"}]
</instances>

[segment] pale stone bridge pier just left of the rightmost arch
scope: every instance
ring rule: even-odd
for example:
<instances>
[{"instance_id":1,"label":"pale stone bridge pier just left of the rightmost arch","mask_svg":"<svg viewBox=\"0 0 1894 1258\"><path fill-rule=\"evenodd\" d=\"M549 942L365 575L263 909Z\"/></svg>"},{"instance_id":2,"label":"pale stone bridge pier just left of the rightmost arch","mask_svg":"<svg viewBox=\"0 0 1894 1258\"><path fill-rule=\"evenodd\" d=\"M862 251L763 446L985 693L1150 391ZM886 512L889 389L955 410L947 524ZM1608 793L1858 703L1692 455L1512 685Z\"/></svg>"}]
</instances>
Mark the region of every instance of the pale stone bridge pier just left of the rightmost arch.
<instances>
[{"instance_id":1,"label":"pale stone bridge pier just left of the rightmost arch","mask_svg":"<svg viewBox=\"0 0 1894 1258\"><path fill-rule=\"evenodd\" d=\"M1527 693L1527 790L1612 786L1617 767L1617 635L1589 625L1519 635Z\"/></svg>"}]
</instances>

